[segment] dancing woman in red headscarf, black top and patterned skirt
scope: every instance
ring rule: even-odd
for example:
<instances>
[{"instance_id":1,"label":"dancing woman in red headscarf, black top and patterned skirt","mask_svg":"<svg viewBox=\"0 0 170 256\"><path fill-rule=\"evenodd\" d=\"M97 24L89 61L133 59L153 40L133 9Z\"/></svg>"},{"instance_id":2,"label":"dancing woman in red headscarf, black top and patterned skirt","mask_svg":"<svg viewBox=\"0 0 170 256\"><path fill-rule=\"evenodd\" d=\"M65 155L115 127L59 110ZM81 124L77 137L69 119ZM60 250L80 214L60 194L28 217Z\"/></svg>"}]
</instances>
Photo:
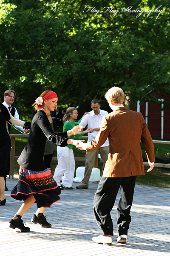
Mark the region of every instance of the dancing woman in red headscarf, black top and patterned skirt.
<instances>
[{"instance_id":1,"label":"dancing woman in red headscarf, black top and patterned skirt","mask_svg":"<svg viewBox=\"0 0 170 256\"><path fill-rule=\"evenodd\" d=\"M24 202L11 219L9 227L17 227L22 232L30 231L21 217L34 202L37 202L38 209L31 221L39 223L42 227L51 227L43 212L60 199L61 189L43 162L46 139L61 147L68 144L77 145L79 141L68 139L68 136L82 131L82 126L77 125L70 131L54 133L46 114L48 111L54 111L57 100L57 94L50 90L46 90L36 99L33 105L38 111L31 121L28 143L17 160L20 164L19 180L11 192L11 197Z\"/></svg>"}]
</instances>

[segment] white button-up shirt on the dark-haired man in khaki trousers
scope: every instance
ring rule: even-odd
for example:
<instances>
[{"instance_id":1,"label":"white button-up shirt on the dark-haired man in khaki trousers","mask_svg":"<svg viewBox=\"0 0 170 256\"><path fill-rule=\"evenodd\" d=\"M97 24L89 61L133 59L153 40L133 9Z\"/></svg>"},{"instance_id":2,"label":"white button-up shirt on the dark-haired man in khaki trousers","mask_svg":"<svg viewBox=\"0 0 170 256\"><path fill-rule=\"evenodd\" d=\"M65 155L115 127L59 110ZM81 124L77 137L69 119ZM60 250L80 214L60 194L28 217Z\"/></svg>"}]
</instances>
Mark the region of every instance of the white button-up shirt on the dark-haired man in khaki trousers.
<instances>
[{"instance_id":1,"label":"white button-up shirt on the dark-haired man in khaki trousers","mask_svg":"<svg viewBox=\"0 0 170 256\"><path fill-rule=\"evenodd\" d=\"M85 115L82 118L82 121L79 123L79 125L82 125L83 128L88 125L88 128L99 128L100 123L102 121L102 117L106 116L108 114L107 111L100 109L99 114L95 115L94 110L90 111L90 114ZM99 131L93 131L92 133L88 133L88 142L91 140L94 140L96 138L96 135L98 134ZM101 147L106 147L109 145L109 140L107 139L105 143Z\"/></svg>"}]
</instances>

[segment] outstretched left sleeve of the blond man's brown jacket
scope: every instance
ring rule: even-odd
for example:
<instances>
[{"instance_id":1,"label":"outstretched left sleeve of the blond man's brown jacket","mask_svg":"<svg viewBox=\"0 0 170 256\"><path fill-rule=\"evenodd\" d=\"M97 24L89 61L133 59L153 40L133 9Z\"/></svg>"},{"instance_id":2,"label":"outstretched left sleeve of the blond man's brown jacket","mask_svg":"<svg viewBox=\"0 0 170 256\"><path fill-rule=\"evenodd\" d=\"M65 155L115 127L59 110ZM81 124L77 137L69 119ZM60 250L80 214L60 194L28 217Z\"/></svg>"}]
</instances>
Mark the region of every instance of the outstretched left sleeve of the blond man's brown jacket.
<instances>
[{"instance_id":1,"label":"outstretched left sleeve of the blond man's brown jacket","mask_svg":"<svg viewBox=\"0 0 170 256\"><path fill-rule=\"evenodd\" d=\"M109 136L109 127L108 120L105 116L102 118L102 122L100 124L100 130L96 135L96 138L88 143L86 143L86 151L91 152L98 148L100 148Z\"/></svg>"}]
</instances>

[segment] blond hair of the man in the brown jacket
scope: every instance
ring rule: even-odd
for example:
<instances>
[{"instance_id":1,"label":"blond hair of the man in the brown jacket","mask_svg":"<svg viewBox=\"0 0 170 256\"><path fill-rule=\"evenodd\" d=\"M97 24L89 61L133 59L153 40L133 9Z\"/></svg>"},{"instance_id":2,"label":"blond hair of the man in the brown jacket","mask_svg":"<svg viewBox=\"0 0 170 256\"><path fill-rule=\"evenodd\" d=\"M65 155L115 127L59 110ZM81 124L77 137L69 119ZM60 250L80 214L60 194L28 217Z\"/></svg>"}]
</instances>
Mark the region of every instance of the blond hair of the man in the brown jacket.
<instances>
[{"instance_id":1,"label":"blond hair of the man in the brown jacket","mask_svg":"<svg viewBox=\"0 0 170 256\"><path fill-rule=\"evenodd\" d=\"M113 100L116 104L123 104L125 99L125 94L123 90L119 87L111 87L105 94L107 100Z\"/></svg>"}]
</instances>

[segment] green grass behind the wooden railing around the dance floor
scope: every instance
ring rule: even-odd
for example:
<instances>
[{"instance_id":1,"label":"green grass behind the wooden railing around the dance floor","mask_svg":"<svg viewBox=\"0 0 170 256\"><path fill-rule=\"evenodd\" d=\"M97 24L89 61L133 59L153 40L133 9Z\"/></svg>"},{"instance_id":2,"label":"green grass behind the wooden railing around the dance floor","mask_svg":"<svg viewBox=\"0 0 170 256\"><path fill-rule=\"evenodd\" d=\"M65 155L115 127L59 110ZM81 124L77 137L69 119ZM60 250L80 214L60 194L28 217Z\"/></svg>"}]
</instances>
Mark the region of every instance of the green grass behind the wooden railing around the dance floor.
<instances>
[{"instance_id":1,"label":"green grass behind the wooden railing around the dance floor","mask_svg":"<svg viewBox=\"0 0 170 256\"><path fill-rule=\"evenodd\" d=\"M20 132L16 131L14 128L11 128L10 131L11 134L20 134ZM16 137L16 144L15 144L15 155L19 156L25 147L26 143L28 141L28 138L20 138ZM167 152L170 152L170 145L167 144L154 144L155 147L155 156L161 157L165 156ZM143 145L141 145L142 148L142 155L144 161L147 162L147 157L143 148ZM75 157L85 157L85 151L81 151L78 148L73 148L74 156ZM54 157L57 156L57 151L54 152ZM84 166L84 162L76 162L76 168L79 166ZM52 174L54 173L55 167L57 166L57 161L51 162L51 169ZM98 168L102 170L102 162L98 163ZM138 176L136 179L136 184L141 185L147 185L147 186L160 186L160 187L169 187L170 188L170 169L167 168L157 168L154 167L153 171L147 173L146 170L148 169L147 166L144 167L145 169L145 175ZM15 160L14 163L14 178L18 178L18 171L19 171L19 165L17 161ZM76 173L75 173L76 175Z\"/></svg>"}]
</instances>

